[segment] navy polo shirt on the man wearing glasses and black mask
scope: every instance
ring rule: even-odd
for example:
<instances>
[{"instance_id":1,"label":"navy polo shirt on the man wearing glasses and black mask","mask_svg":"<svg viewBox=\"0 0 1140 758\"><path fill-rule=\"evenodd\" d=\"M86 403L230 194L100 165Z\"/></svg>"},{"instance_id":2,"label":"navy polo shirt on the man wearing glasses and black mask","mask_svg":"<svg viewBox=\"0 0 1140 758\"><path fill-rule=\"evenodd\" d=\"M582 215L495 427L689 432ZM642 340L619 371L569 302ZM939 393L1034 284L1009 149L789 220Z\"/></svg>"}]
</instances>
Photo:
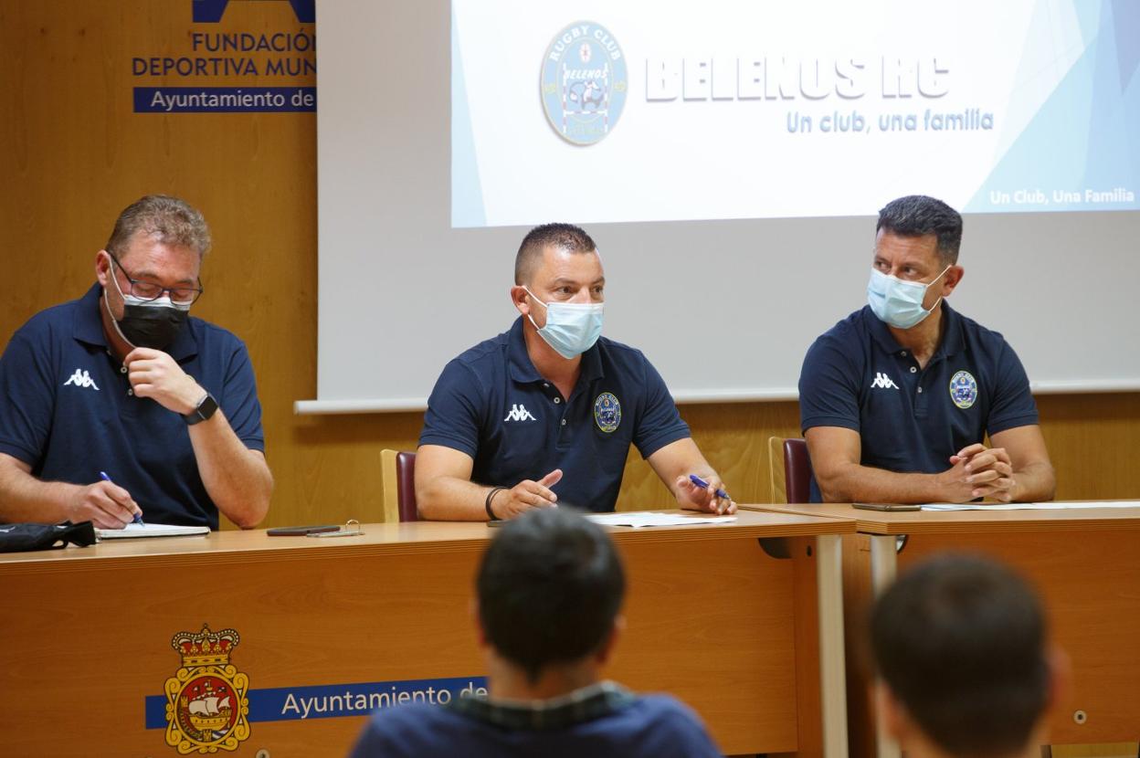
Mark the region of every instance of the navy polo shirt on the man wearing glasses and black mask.
<instances>
[{"instance_id":1,"label":"navy polo shirt on the man wearing glasses and black mask","mask_svg":"<svg viewBox=\"0 0 1140 758\"><path fill-rule=\"evenodd\" d=\"M105 471L146 521L217 529L218 508L198 475L186 422L135 397L109 352L101 292L97 284L13 335L0 357L0 453L44 481L90 484ZM189 318L165 352L213 394L238 439L263 451L261 405L241 340Z\"/></svg>"}]
</instances>

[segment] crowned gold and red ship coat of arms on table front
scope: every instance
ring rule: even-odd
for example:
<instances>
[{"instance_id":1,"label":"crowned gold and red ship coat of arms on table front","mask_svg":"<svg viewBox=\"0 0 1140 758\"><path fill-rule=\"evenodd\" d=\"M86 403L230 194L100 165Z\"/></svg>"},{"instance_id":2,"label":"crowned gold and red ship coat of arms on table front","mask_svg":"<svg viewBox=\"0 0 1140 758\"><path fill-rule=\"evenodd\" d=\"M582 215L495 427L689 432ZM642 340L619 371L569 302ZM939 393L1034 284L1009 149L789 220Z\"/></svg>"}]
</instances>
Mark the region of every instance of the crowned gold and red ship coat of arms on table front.
<instances>
[{"instance_id":1,"label":"crowned gold and red ship coat of arms on table front","mask_svg":"<svg viewBox=\"0 0 1140 758\"><path fill-rule=\"evenodd\" d=\"M229 661L233 629L179 631L170 641L182 667L166 679L166 744L181 755L237 750L250 736L250 677Z\"/></svg>"}]
</instances>

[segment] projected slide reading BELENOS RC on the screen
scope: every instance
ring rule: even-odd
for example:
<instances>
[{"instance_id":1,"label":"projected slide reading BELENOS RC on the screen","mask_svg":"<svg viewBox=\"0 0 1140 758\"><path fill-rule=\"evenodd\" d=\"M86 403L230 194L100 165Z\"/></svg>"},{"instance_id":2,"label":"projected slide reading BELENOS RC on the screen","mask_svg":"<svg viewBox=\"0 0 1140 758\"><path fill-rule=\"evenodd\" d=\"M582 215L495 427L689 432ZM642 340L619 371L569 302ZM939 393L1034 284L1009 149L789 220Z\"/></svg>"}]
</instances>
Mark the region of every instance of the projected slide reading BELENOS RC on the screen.
<instances>
[{"instance_id":1,"label":"projected slide reading BELENOS RC on the screen","mask_svg":"<svg viewBox=\"0 0 1140 758\"><path fill-rule=\"evenodd\" d=\"M1140 209L1140 2L453 0L451 225Z\"/></svg>"}]
</instances>

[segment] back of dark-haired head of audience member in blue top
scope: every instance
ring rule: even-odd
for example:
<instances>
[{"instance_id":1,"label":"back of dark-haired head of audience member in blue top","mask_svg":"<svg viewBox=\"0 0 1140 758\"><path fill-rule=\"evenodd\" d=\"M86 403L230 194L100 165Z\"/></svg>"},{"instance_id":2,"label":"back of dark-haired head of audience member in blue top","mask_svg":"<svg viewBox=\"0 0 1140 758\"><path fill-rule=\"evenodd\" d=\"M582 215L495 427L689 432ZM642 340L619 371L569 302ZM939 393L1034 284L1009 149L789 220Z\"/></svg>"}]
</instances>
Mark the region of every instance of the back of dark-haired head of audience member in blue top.
<instances>
[{"instance_id":1,"label":"back of dark-haired head of audience member in blue top","mask_svg":"<svg viewBox=\"0 0 1140 758\"><path fill-rule=\"evenodd\" d=\"M610 638L625 588L601 527L567 508L534 510L504 524L483 555L480 623L496 652L537 680Z\"/></svg>"}]
</instances>

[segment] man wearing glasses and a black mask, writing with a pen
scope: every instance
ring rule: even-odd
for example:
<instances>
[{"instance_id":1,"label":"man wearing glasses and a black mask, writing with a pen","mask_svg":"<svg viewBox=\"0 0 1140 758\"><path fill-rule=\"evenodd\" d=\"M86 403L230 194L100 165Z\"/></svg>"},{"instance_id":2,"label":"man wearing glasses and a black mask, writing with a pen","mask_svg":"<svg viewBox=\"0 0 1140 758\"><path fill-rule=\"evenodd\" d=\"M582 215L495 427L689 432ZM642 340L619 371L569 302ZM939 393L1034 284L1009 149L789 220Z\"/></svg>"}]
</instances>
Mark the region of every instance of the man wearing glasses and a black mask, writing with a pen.
<instances>
[{"instance_id":1,"label":"man wearing glasses and a black mask, writing with a pen","mask_svg":"<svg viewBox=\"0 0 1140 758\"><path fill-rule=\"evenodd\" d=\"M0 358L0 521L218 528L272 490L253 368L188 318L210 247L202 214L148 195L115 222L81 299L38 313Z\"/></svg>"}]
</instances>

